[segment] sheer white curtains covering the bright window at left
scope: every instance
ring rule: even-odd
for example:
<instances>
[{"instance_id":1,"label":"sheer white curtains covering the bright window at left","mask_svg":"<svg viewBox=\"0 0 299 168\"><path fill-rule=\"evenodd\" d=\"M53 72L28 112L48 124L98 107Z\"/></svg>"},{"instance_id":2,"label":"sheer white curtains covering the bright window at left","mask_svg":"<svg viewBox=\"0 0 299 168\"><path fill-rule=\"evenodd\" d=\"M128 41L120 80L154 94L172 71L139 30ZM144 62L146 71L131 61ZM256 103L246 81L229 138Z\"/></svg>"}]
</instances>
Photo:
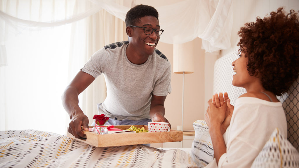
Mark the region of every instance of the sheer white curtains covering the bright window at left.
<instances>
[{"instance_id":1,"label":"sheer white curtains covering the bright window at left","mask_svg":"<svg viewBox=\"0 0 299 168\"><path fill-rule=\"evenodd\" d=\"M69 122L61 103L65 87L91 54L123 40L123 21L110 13L92 10L83 19L77 17L93 5L60 0L1 2L1 18L13 17L1 20L7 66L0 67L0 130L65 133ZM72 16L78 19L67 24ZM107 20L109 24L103 24ZM80 95L80 106L92 118L96 103L105 97L105 82L99 77Z\"/></svg>"}]
</instances>

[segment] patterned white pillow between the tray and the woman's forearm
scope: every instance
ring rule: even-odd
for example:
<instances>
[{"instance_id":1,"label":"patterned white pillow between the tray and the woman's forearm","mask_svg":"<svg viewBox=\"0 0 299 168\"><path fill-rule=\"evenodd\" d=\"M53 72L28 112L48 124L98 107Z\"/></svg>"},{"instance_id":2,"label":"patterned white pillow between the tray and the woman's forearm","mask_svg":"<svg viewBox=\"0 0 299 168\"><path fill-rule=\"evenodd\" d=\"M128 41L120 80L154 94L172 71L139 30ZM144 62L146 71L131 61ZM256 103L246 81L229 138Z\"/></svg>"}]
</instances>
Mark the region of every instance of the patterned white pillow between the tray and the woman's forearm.
<instances>
[{"instance_id":1,"label":"patterned white pillow between the tray and the woman's forearm","mask_svg":"<svg viewBox=\"0 0 299 168\"><path fill-rule=\"evenodd\" d=\"M214 158L214 149L205 120L193 123L195 137L191 147L191 157L199 168L207 166Z\"/></svg>"}]
</instances>

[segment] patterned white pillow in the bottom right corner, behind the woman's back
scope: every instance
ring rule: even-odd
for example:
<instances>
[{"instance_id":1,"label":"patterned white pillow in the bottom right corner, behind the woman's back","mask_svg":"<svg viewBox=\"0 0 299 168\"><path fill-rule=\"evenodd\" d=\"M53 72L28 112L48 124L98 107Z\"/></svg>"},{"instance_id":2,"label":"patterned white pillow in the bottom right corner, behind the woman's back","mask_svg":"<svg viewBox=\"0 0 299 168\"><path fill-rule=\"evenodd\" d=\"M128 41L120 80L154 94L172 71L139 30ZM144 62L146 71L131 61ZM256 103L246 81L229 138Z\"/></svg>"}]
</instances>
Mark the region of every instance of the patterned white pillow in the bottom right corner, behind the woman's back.
<instances>
[{"instance_id":1,"label":"patterned white pillow in the bottom right corner, behind the woman's back","mask_svg":"<svg viewBox=\"0 0 299 168\"><path fill-rule=\"evenodd\" d=\"M270 139L251 165L251 168L263 167L299 167L299 152L287 139L281 136L278 128L274 130Z\"/></svg>"}]
</instances>

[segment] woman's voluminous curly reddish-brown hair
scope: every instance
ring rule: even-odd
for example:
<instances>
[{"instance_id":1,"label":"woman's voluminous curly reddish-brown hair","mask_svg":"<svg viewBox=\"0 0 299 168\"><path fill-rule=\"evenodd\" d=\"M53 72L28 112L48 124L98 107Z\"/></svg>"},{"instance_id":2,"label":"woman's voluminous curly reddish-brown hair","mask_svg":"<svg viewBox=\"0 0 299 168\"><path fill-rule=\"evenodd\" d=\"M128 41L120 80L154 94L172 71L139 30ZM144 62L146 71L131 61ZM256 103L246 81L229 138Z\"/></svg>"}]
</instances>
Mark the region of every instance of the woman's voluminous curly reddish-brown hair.
<instances>
[{"instance_id":1,"label":"woman's voluminous curly reddish-brown hair","mask_svg":"<svg viewBox=\"0 0 299 168\"><path fill-rule=\"evenodd\" d=\"M239 52L248 57L248 73L260 73L263 87L275 95L288 91L299 73L298 12L285 14L280 7L264 19L246 23L238 35Z\"/></svg>"}]
</instances>

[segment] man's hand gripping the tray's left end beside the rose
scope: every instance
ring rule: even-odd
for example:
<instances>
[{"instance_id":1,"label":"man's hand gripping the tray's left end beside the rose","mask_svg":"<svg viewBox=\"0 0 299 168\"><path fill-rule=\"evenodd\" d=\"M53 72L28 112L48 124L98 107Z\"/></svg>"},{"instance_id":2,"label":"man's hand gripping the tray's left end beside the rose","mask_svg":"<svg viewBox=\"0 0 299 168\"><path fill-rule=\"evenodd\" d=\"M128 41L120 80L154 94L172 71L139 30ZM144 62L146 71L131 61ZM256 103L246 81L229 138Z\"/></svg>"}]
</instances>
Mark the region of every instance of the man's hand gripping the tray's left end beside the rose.
<instances>
[{"instance_id":1,"label":"man's hand gripping the tray's left end beside the rose","mask_svg":"<svg viewBox=\"0 0 299 168\"><path fill-rule=\"evenodd\" d=\"M85 134L83 133L81 126L84 131L88 131L88 117L82 111L74 113L75 114L71 116L71 122L68 124L68 132L73 134L76 138L84 137Z\"/></svg>"}]
</instances>

